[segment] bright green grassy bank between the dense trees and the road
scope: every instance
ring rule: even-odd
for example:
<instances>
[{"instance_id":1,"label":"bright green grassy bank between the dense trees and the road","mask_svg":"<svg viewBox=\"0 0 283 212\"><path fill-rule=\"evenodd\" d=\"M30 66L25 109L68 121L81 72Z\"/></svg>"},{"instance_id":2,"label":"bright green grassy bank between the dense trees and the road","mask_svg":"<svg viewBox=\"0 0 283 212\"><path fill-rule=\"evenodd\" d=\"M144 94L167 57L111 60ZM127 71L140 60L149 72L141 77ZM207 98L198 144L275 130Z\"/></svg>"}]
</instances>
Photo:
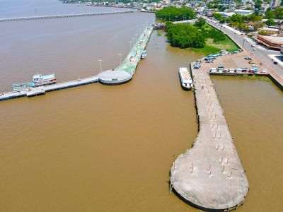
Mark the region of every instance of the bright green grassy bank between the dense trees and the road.
<instances>
[{"instance_id":1,"label":"bright green grassy bank between the dense trees and the road","mask_svg":"<svg viewBox=\"0 0 283 212\"><path fill-rule=\"evenodd\" d=\"M206 36L206 42L203 48L188 48L192 52L200 52L203 54L216 54L221 49L226 49L229 52L233 52L235 50L238 50L239 47L227 36L224 35L223 40L215 41L213 35L211 35L211 31L214 28L212 28L210 25L205 24L204 27L200 29L202 31L203 35Z\"/></svg>"}]
</instances>

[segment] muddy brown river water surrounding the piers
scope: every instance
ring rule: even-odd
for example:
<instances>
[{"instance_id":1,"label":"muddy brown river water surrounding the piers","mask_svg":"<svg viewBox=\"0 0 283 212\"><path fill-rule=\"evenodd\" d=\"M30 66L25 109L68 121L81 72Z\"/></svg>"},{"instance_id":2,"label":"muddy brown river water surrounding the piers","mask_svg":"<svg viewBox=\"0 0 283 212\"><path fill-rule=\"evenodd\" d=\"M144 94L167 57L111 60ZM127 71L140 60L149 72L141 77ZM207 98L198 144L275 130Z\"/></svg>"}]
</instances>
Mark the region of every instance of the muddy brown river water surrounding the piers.
<instances>
[{"instance_id":1,"label":"muddy brown river water surrounding the piers","mask_svg":"<svg viewBox=\"0 0 283 212\"><path fill-rule=\"evenodd\" d=\"M44 15L115 11L28 2ZM35 11L3 5L11 9L2 17ZM98 59L112 69L152 20L132 13L1 23L0 90L37 71L55 72L58 81L91 76ZM173 160L197 135L194 96L180 88L178 67L201 55L170 47L161 34L151 35L148 57L129 83L0 103L0 211L197 211L169 194L168 180ZM280 211L282 92L270 81L213 80L250 182L240 211Z\"/></svg>"}]
</instances>

